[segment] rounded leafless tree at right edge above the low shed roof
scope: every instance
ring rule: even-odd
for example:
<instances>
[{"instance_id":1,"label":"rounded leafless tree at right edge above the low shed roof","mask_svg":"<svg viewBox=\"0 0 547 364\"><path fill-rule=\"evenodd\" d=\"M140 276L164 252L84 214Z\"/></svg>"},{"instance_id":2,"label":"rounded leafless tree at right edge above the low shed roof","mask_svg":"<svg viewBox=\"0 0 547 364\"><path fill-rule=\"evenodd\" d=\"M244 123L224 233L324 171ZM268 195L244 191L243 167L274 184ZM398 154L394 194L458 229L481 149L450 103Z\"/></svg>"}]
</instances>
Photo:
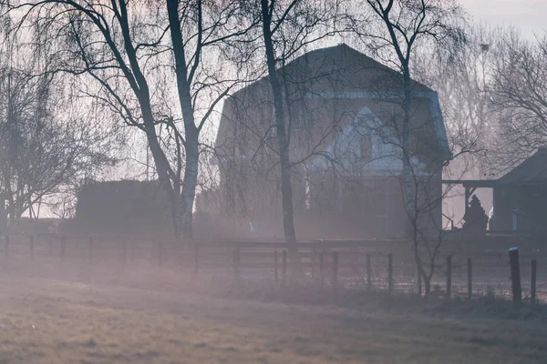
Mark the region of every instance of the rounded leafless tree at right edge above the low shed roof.
<instances>
[{"instance_id":1,"label":"rounded leafless tree at right edge above the low shed roof","mask_svg":"<svg viewBox=\"0 0 547 364\"><path fill-rule=\"evenodd\" d=\"M498 120L490 162L499 173L547 146L547 37L527 41L509 30L492 52L488 86Z\"/></svg>"}]
</instances>

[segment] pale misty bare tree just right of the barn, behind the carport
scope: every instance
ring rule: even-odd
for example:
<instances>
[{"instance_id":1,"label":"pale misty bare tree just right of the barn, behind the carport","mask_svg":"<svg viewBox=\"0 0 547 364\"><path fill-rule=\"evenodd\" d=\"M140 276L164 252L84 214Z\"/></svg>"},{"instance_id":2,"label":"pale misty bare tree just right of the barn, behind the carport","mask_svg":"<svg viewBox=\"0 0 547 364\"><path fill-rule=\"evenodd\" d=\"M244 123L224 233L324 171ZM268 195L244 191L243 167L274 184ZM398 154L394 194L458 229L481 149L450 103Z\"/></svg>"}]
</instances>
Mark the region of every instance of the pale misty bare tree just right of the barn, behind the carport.
<instances>
[{"instance_id":1,"label":"pale misty bare tree just right of the barn, behind the carport","mask_svg":"<svg viewBox=\"0 0 547 364\"><path fill-rule=\"evenodd\" d=\"M466 42L452 47L418 49L413 76L439 93L439 103L447 128L453 157L443 168L445 179L490 177L487 161L493 151L497 113L490 105L490 83L494 45L500 29L483 24L462 25ZM463 210L462 188L450 186L443 198L444 214L459 224ZM488 198L488 196L485 196Z\"/></svg>"}]
</instances>

